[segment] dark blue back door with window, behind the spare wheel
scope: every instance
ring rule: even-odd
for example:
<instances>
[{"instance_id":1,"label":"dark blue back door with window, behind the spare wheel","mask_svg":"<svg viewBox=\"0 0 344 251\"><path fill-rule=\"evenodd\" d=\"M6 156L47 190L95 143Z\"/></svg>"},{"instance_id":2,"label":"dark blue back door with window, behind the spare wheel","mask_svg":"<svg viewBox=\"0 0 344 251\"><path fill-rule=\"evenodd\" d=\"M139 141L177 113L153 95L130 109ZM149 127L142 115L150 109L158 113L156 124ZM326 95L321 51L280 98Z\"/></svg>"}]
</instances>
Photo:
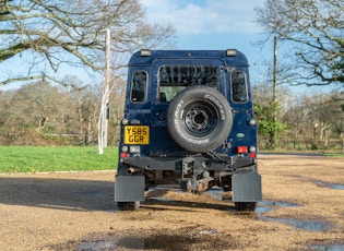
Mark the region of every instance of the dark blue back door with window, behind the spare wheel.
<instances>
[{"instance_id":1,"label":"dark blue back door with window, behind the spare wheel","mask_svg":"<svg viewBox=\"0 0 344 251\"><path fill-rule=\"evenodd\" d=\"M151 85L151 156L180 156L188 152L170 138L166 127L169 101L177 93L193 85L214 87L227 93L224 62L220 59L155 60Z\"/></svg>"}]
</instances>

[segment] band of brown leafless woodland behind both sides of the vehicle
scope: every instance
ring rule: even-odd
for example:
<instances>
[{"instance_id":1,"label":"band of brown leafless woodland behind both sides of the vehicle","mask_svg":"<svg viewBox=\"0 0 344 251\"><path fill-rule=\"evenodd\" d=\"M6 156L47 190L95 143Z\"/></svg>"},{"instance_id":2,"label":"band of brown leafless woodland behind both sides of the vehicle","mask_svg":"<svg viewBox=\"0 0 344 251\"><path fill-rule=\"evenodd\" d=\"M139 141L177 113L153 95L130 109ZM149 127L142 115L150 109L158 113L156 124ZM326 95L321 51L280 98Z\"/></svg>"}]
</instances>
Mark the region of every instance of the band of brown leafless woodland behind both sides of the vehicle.
<instances>
[{"instance_id":1,"label":"band of brown leafless woodland behind both sides of the vehicle","mask_svg":"<svg viewBox=\"0 0 344 251\"><path fill-rule=\"evenodd\" d=\"M71 79L70 81L73 81ZM126 82L117 80L110 95L108 144L116 146L122 118ZM115 91L116 89L116 91ZM344 132L344 92L295 97L278 92L277 129L271 112L272 88L252 88L261 150L273 148L272 131L278 131L281 150L341 150ZM97 144L102 86L75 91L47 82L0 92L0 145Z\"/></svg>"}]
</instances>

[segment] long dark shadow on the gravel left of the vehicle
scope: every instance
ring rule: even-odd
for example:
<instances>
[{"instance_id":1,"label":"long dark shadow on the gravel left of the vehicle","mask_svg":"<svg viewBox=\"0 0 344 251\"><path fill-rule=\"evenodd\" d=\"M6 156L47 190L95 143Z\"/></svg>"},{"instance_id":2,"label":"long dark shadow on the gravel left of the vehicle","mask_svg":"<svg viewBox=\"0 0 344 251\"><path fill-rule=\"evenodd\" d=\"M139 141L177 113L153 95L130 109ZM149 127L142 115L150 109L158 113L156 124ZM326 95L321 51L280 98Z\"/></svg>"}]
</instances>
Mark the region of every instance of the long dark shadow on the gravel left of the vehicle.
<instances>
[{"instance_id":1,"label":"long dark shadow on the gravel left of the vehicle","mask_svg":"<svg viewBox=\"0 0 344 251\"><path fill-rule=\"evenodd\" d=\"M115 211L114 182L0 178L0 203L68 211Z\"/></svg>"}]
</instances>

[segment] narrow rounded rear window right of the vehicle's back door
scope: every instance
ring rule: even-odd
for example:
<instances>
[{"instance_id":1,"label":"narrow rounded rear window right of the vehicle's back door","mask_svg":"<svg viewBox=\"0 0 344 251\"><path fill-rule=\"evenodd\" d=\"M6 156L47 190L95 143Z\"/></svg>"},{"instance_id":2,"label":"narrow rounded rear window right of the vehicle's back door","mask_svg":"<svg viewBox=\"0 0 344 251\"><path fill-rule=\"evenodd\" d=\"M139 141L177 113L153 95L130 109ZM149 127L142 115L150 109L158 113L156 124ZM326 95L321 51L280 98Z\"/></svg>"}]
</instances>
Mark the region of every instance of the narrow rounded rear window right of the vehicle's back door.
<instances>
[{"instance_id":1,"label":"narrow rounded rear window right of the vehicle's back door","mask_svg":"<svg viewBox=\"0 0 344 251\"><path fill-rule=\"evenodd\" d=\"M242 71L234 71L230 74L232 99L235 103L247 101L247 81Z\"/></svg>"}]
</instances>

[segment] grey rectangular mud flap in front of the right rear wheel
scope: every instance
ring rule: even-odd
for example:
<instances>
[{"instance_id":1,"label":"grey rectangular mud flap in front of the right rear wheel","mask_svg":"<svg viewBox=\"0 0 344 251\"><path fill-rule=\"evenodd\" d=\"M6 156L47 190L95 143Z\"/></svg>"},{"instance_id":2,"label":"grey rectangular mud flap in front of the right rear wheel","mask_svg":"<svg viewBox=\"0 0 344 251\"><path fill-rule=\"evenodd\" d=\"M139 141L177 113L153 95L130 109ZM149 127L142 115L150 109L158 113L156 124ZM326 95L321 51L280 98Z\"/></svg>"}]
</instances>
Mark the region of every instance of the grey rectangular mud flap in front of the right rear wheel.
<instances>
[{"instance_id":1,"label":"grey rectangular mud flap in front of the right rear wheel","mask_svg":"<svg viewBox=\"0 0 344 251\"><path fill-rule=\"evenodd\" d=\"M238 170L232 176L234 202L262 200L261 176L256 170Z\"/></svg>"}]
</instances>

